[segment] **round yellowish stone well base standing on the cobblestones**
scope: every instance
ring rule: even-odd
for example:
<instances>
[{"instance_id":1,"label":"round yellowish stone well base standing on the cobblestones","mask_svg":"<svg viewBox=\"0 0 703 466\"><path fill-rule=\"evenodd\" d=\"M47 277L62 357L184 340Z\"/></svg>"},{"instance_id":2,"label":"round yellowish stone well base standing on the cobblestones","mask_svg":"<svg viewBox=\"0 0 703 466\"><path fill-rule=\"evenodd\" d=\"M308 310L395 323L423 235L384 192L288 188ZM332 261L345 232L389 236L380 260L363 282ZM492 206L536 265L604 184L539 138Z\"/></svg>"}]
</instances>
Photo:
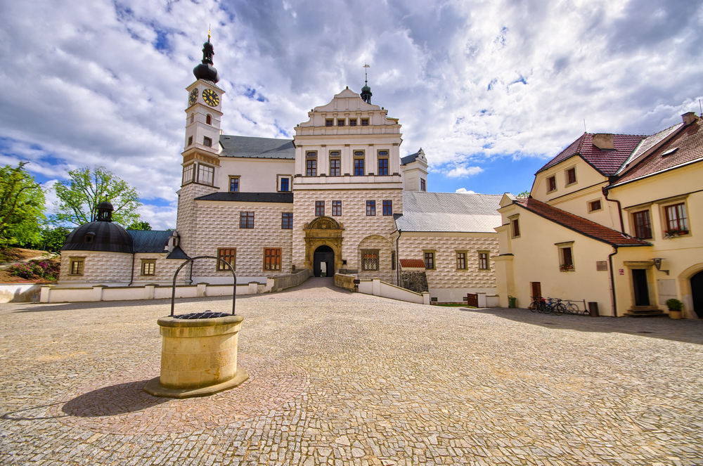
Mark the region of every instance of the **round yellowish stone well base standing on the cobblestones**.
<instances>
[{"instance_id":1,"label":"round yellowish stone well base standing on the cobblestones","mask_svg":"<svg viewBox=\"0 0 703 466\"><path fill-rule=\"evenodd\" d=\"M237 387L249 375L237 368L242 316L160 318L161 375L144 391L153 396L190 398Z\"/></svg>"}]
</instances>

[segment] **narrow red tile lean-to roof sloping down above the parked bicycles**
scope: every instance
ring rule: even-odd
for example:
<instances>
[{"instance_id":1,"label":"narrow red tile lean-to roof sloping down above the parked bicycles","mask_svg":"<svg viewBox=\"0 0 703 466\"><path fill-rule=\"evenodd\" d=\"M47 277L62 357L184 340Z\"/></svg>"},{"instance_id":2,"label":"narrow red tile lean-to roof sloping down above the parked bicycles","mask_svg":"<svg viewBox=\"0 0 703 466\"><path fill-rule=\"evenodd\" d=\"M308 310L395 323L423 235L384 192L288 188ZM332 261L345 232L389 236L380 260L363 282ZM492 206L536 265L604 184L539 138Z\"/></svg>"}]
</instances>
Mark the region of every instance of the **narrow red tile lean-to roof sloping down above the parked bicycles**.
<instances>
[{"instance_id":1,"label":"narrow red tile lean-to roof sloping down above the parked bicycles","mask_svg":"<svg viewBox=\"0 0 703 466\"><path fill-rule=\"evenodd\" d=\"M513 201L513 204L520 205L530 212L569 228L569 230L576 231L576 233L581 233L581 235L588 236L588 238L593 238L612 246L651 246L649 242L632 238L612 228L596 224L594 221L570 214L565 210L557 209L533 198L517 198L517 200Z\"/></svg>"}]
</instances>

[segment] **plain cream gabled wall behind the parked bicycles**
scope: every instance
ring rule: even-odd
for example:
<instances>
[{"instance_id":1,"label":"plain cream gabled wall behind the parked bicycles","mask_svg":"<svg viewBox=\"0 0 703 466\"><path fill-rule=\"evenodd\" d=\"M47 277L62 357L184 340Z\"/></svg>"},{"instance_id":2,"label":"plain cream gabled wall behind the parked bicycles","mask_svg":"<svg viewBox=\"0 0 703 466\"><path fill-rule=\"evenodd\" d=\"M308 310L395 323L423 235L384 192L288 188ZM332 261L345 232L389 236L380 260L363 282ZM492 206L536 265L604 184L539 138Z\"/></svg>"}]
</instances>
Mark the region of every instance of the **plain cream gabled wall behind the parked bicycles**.
<instances>
[{"instance_id":1,"label":"plain cream gabled wall behind the parked bicycles","mask_svg":"<svg viewBox=\"0 0 703 466\"><path fill-rule=\"evenodd\" d=\"M585 299L597 302L600 315L612 315L610 275L598 270L598 262L607 263L614 252L610 245L583 236L555 224L553 221L515 205L501 209L503 224L510 223L510 216L518 214L520 237L511 238L510 228L498 228L501 235L501 254L496 260L498 295L501 306L508 306L508 295L517 297L517 306L526 308L531 302L531 283L541 285L543 297ZM572 243L574 269L560 271L559 245ZM621 248L621 250L636 248ZM512 273L510 273L512 268ZM579 306L583 308L583 304ZM624 312L619 309L619 313Z\"/></svg>"}]
</instances>

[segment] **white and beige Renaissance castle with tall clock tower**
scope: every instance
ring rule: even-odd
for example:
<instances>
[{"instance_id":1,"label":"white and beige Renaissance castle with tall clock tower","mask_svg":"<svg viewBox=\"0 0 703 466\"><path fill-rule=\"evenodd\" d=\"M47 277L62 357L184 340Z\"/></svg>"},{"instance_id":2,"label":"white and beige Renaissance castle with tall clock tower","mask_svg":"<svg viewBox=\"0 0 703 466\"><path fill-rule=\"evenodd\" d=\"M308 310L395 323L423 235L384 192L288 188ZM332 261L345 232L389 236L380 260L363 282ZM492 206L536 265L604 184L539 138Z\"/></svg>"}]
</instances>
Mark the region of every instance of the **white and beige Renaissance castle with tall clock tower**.
<instances>
[{"instance_id":1,"label":"white and beige Renaissance castle with tall clock tower","mask_svg":"<svg viewBox=\"0 0 703 466\"><path fill-rule=\"evenodd\" d=\"M176 233L152 252L161 254L147 269L153 275L142 274L137 283L167 283L171 262L208 255L234 266L238 283L309 269L315 276L353 273L403 286L400 259L407 259L424 265L434 301L496 291L501 196L427 192L425 153L401 157L401 124L371 103L368 83L361 94L347 88L312 109L292 140L230 136L220 129L224 90L209 40L202 52L195 82L186 88ZM96 283L88 261L81 275L69 273L81 247L74 242L62 252L67 267L60 285ZM136 260L124 259L120 267L135 269ZM224 264L203 259L193 262L187 279L217 284L232 277ZM108 283L103 273L101 280L125 284L126 278Z\"/></svg>"}]
</instances>

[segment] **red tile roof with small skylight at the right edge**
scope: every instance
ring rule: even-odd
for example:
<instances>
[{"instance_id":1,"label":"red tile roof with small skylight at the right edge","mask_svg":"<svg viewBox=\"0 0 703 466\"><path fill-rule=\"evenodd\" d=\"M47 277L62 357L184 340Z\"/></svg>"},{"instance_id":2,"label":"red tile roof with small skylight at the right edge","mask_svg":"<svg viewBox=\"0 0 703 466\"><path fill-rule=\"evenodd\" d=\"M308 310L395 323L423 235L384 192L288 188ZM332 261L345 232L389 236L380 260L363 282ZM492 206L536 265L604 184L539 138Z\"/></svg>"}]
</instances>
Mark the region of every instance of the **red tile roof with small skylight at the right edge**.
<instances>
[{"instance_id":1,"label":"red tile roof with small skylight at the right edge","mask_svg":"<svg viewBox=\"0 0 703 466\"><path fill-rule=\"evenodd\" d=\"M674 150L673 152L671 152ZM664 155L668 153L667 155ZM636 179L652 176L661 171L673 169L692 162L703 161L703 120L697 119L688 127L683 127L660 148L647 155L638 164L627 170L613 183L617 186Z\"/></svg>"}]
</instances>

